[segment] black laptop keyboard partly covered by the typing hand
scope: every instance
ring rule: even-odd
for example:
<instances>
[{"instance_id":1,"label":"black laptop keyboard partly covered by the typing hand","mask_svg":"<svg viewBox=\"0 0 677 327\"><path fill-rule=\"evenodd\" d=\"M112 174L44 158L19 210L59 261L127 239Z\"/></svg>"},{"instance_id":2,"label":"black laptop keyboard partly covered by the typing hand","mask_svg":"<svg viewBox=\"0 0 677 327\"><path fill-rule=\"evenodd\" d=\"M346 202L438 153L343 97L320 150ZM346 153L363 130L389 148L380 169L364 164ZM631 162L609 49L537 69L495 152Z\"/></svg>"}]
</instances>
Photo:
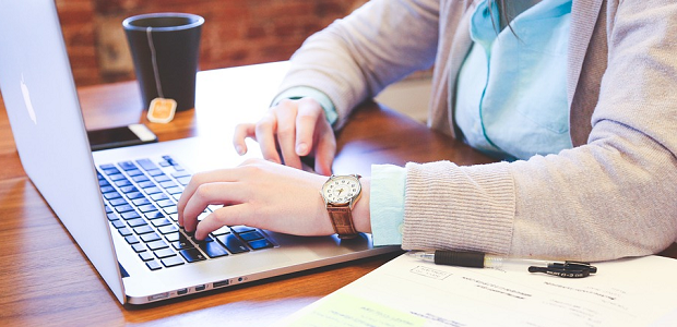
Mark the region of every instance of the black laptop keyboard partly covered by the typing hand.
<instances>
[{"instance_id":1,"label":"black laptop keyboard partly covered by the typing hand","mask_svg":"<svg viewBox=\"0 0 677 327\"><path fill-rule=\"evenodd\" d=\"M225 226L198 241L178 225L176 204L191 174L170 156L98 167L110 225L151 270L274 247L262 230ZM210 206L202 219L221 206Z\"/></svg>"}]
</instances>

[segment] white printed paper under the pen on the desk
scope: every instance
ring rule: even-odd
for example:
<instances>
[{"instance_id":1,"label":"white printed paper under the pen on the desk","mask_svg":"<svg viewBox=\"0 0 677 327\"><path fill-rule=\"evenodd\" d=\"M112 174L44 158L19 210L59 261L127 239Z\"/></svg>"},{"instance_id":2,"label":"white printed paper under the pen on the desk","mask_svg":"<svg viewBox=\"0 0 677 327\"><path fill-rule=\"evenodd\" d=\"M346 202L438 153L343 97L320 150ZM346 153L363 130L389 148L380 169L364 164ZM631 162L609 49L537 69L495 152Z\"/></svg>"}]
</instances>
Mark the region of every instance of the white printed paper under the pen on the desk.
<instances>
[{"instance_id":1,"label":"white printed paper under the pen on the desk","mask_svg":"<svg viewBox=\"0 0 677 327\"><path fill-rule=\"evenodd\" d=\"M597 263L567 279L438 266L402 255L285 320L286 326L677 326L677 261Z\"/></svg>"}]
</instances>

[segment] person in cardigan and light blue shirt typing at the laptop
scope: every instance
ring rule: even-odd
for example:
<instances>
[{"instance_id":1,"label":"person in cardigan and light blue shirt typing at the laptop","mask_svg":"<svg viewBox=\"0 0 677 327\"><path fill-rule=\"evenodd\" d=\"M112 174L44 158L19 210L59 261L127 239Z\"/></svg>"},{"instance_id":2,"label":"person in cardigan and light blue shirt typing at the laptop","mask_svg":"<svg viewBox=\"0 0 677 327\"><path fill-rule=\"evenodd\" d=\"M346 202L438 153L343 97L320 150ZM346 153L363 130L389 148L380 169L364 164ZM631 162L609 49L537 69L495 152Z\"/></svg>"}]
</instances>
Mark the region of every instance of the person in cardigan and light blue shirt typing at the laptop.
<instances>
[{"instance_id":1,"label":"person in cardigan and light blue shirt typing at the laptop","mask_svg":"<svg viewBox=\"0 0 677 327\"><path fill-rule=\"evenodd\" d=\"M199 173L179 222L334 230L318 191L352 108L433 66L428 125L500 161L372 166L355 228L376 245L605 261L677 240L677 3L371 0L309 37L268 113L266 160ZM313 156L319 174L300 169ZM284 162L284 165L278 165ZM298 199L304 199L302 204ZM209 204L224 204L198 223Z\"/></svg>"}]
</instances>

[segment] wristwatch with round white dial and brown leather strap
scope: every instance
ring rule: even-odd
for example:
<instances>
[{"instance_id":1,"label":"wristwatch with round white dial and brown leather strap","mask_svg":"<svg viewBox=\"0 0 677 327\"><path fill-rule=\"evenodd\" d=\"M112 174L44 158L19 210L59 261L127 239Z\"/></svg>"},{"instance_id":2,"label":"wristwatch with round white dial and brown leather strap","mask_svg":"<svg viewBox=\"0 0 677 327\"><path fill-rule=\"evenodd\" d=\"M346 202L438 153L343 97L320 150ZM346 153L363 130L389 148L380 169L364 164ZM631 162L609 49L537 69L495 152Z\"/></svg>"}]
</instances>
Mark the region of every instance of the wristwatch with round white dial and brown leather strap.
<instances>
[{"instance_id":1,"label":"wristwatch with round white dial and brown leather strap","mask_svg":"<svg viewBox=\"0 0 677 327\"><path fill-rule=\"evenodd\" d=\"M359 174L331 175L322 185L322 198L334 231L340 239L357 237L353 223L353 206L361 195Z\"/></svg>"}]
</instances>

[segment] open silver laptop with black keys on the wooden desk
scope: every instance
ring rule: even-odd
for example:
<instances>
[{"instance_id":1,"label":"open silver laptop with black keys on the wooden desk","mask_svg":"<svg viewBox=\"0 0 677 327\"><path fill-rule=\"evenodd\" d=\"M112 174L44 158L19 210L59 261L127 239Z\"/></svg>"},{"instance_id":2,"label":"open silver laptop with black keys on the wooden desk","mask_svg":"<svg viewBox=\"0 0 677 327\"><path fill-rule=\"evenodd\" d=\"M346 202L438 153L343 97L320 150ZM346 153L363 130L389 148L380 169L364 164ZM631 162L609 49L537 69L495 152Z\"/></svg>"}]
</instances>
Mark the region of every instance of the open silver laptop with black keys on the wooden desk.
<instances>
[{"instance_id":1,"label":"open silver laptop with black keys on the wooden desk","mask_svg":"<svg viewBox=\"0 0 677 327\"><path fill-rule=\"evenodd\" d=\"M191 172L234 167L242 158L209 138L91 152L54 0L0 0L0 90L24 170L120 303L399 249L373 247L368 234L341 241L247 226L224 227L197 242L176 223L182 186Z\"/></svg>"}]
</instances>

